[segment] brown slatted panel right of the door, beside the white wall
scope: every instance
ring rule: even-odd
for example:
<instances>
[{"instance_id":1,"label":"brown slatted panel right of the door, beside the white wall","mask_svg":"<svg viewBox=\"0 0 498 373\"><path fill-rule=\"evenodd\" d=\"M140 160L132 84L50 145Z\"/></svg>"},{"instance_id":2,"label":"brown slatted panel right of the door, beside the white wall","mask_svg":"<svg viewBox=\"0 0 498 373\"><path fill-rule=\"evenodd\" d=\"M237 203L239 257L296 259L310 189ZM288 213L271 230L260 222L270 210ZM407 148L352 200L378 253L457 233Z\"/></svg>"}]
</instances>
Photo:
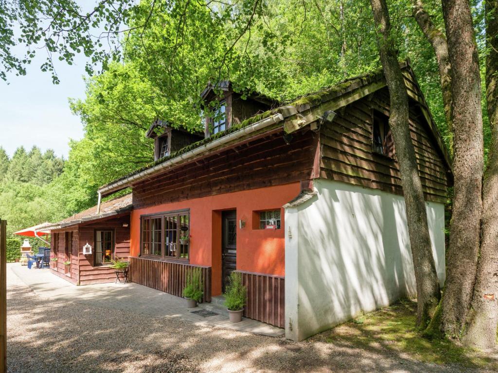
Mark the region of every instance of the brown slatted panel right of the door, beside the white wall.
<instances>
[{"instance_id":1,"label":"brown slatted panel right of the door, beside the white wall","mask_svg":"<svg viewBox=\"0 0 498 373\"><path fill-rule=\"evenodd\" d=\"M248 289L244 316L284 328L285 279L280 276L237 272L242 274L243 284Z\"/></svg>"}]
</instances>

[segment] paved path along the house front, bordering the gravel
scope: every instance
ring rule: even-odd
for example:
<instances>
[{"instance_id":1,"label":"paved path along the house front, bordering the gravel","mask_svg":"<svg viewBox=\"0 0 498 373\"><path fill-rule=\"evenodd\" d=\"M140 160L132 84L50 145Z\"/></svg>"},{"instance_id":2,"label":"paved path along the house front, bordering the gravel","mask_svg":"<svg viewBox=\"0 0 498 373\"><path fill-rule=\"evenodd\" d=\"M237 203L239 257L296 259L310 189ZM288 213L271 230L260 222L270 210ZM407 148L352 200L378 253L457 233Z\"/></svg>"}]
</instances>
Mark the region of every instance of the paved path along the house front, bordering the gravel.
<instances>
[{"instance_id":1,"label":"paved path along the house front, bordering the gravel","mask_svg":"<svg viewBox=\"0 0 498 373\"><path fill-rule=\"evenodd\" d=\"M187 308L183 298L142 286L136 283L102 283L75 286L50 273L49 269L31 269L20 264L10 264L12 272L37 295L58 300L143 313L154 317L168 317L242 332L278 337L284 330L256 320L244 318L231 323L228 317L199 307Z\"/></svg>"}]
</instances>

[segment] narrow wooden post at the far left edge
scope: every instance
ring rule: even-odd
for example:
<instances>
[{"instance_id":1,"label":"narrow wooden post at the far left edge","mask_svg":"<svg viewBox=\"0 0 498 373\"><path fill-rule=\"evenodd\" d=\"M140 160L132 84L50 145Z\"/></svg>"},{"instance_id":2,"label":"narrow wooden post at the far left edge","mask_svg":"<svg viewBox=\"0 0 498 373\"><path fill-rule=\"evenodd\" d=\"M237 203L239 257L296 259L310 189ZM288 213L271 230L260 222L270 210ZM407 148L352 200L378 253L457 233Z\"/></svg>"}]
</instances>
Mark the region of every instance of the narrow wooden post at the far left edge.
<instances>
[{"instance_id":1,"label":"narrow wooden post at the far left edge","mask_svg":"<svg viewBox=\"0 0 498 373\"><path fill-rule=\"evenodd\" d=\"M0 220L0 372L7 372L7 222Z\"/></svg>"}]
</instances>

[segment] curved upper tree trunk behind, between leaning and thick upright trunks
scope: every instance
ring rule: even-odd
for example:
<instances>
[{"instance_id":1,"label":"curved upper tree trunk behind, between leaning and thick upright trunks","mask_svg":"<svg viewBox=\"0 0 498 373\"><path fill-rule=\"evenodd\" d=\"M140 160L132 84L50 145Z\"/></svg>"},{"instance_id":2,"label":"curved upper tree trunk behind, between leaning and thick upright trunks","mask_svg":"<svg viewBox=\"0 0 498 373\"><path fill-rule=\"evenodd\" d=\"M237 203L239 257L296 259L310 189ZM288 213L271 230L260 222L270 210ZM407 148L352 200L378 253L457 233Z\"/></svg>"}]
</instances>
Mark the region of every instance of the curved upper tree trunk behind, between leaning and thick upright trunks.
<instances>
[{"instance_id":1,"label":"curved upper tree trunk behind, between leaning and thick upright trunks","mask_svg":"<svg viewBox=\"0 0 498 373\"><path fill-rule=\"evenodd\" d=\"M448 54L448 43L444 33L432 22L429 13L424 8L422 0L414 0L412 7L413 17L417 21L425 37L431 43L439 68L439 80L443 93L444 114L450 136L453 135L453 120L451 116L451 65ZM450 138L450 151L453 153L453 139Z\"/></svg>"}]
</instances>

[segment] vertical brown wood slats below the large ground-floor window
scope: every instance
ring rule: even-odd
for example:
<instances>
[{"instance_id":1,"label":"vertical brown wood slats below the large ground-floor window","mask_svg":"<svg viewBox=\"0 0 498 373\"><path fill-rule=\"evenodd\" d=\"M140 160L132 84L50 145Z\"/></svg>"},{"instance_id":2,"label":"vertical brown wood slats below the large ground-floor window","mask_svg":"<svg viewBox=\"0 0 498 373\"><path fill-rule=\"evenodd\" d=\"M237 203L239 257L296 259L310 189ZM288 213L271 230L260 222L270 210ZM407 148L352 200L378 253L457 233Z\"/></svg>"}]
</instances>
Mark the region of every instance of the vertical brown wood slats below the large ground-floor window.
<instances>
[{"instance_id":1,"label":"vertical brown wood slats below the large ground-floor window","mask_svg":"<svg viewBox=\"0 0 498 373\"><path fill-rule=\"evenodd\" d=\"M176 296L183 296L187 272L200 268L204 283L204 302L211 301L211 267L186 263L129 257L128 278L140 285L152 287Z\"/></svg>"}]
</instances>

